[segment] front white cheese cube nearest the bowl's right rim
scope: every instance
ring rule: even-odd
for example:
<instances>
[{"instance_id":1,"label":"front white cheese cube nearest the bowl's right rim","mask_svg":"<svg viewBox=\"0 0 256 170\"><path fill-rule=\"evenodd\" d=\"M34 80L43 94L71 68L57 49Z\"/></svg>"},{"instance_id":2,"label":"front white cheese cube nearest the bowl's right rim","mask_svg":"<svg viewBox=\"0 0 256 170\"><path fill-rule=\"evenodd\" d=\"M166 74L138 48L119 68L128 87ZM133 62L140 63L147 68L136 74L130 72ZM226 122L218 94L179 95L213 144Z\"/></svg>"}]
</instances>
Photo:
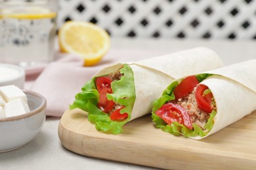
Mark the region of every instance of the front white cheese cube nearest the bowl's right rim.
<instances>
[{"instance_id":1,"label":"front white cheese cube nearest the bowl's right rim","mask_svg":"<svg viewBox=\"0 0 256 170\"><path fill-rule=\"evenodd\" d=\"M7 117L18 116L26 112L30 112L30 108L22 99L15 99L5 103L5 116Z\"/></svg>"}]
</instances>

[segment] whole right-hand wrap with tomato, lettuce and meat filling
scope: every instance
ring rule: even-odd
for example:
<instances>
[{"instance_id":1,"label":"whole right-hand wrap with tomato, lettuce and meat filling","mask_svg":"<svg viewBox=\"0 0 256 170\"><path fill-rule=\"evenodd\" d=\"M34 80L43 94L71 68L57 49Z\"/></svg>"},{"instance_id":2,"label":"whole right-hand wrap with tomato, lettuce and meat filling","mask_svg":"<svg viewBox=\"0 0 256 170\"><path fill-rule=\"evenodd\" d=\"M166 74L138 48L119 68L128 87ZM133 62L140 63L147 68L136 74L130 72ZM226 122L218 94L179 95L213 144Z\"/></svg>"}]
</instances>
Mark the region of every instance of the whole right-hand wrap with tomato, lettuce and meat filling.
<instances>
[{"instance_id":1,"label":"whole right-hand wrap with tomato, lettuce and meat filling","mask_svg":"<svg viewBox=\"0 0 256 170\"><path fill-rule=\"evenodd\" d=\"M177 78L154 102L156 127L203 139L256 110L256 59Z\"/></svg>"}]
</instances>

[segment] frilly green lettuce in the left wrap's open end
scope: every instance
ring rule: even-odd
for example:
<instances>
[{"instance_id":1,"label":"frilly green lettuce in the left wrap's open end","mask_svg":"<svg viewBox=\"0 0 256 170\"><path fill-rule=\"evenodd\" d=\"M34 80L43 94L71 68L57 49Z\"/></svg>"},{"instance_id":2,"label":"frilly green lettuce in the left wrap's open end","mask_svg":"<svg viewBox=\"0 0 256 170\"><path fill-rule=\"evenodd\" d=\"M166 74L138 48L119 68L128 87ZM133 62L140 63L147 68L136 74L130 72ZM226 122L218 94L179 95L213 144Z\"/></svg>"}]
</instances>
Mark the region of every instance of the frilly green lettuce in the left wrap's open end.
<instances>
[{"instance_id":1,"label":"frilly green lettuce in the left wrap's open end","mask_svg":"<svg viewBox=\"0 0 256 170\"><path fill-rule=\"evenodd\" d=\"M88 112L89 122L95 124L98 131L105 133L113 133L115 135L123 131L122 126L129 122L131 119L131 111L133 110L133 104L135 103L135 84L133 71L129 65L124 64L120 69L120 73L123 73L120 80L114 80L111 84L113 93L107 94L109 100L113 100L119 105L125 106L120 110L120 113L127 112L128 118L122 122L110 120L109 114L102 112L98 109L98 91L95 86L95 78L89 80L83 88L82 92L75 95L75 101L70 105L70 109L79 108Z\"/></svg>"}]
</instances>

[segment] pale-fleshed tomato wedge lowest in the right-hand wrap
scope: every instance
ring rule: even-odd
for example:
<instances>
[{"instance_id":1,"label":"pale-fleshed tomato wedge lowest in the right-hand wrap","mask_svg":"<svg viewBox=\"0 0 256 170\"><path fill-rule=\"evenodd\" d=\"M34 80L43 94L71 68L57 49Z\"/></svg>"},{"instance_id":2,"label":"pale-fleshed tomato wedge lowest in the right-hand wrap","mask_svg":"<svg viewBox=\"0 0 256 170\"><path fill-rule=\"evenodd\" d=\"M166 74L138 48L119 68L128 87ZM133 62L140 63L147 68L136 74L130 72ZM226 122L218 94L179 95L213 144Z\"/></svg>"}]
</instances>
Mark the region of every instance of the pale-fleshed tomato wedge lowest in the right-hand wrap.
<instances>
[{"instance_id":1,"label":"pale-fleshed tomato wedge lowest in the right-hand wrap","mask_svg":"<svg viewBox=\"0 0 256 170\"><path fill-rule=\"evenodd\" d=\"M193 129L188 112L179 104L166 103L156 111L156 115L160 116L169 125L178 122L188 127L188 129Z\"/></svg>"}]
</instances>

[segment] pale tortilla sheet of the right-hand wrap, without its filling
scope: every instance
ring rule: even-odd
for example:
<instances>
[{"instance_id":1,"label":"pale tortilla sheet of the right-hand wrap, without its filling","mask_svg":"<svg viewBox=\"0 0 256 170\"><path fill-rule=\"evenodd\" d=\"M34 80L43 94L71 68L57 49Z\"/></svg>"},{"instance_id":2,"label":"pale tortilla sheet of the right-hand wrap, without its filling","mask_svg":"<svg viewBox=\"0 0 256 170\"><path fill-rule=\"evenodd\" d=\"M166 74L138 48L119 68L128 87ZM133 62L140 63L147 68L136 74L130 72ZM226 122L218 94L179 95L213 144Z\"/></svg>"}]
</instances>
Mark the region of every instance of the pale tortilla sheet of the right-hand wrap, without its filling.
<instances>
[{"instance_id":1,"label":"pale tortilla sheet of the right-hand wrap, without its filling","mask_svg":"<svg viewBox=\"0 0 256 170\"><path fill-rule=\"evenodd\" d=\"M256 110L256 59L190 75L204 73L213 74L200 84L207 86L213 93L217 113L209 132L204 136L187 136L192 139L203 139L212 135ZM175 81L179 82L185 77Z\"/></svg>"}]
</instances>

